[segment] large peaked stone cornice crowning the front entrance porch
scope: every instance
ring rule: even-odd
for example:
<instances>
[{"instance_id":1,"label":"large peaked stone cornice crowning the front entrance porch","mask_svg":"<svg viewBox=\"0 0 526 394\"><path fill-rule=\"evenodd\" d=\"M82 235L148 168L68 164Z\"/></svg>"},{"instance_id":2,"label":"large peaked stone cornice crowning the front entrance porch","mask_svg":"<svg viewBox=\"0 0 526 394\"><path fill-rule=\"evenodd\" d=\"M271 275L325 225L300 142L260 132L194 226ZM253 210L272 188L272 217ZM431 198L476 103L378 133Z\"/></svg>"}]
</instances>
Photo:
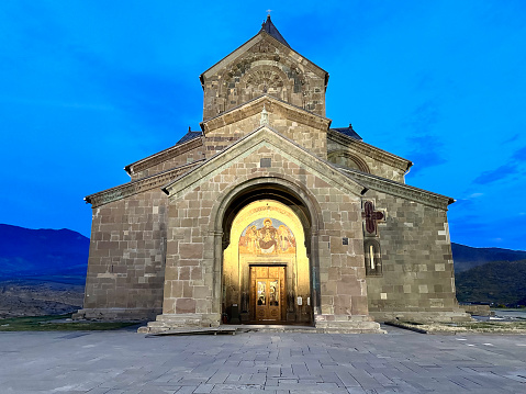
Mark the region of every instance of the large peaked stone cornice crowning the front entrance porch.
<instances>
[{"instance_id":1,"label":"large peaked stone cornice crowning the front entrance porch","mask_svg":"<svg viewBox=\"0 0 526 394\"><path fill-rule=\"evenodd\" d=\"M269 126L256 128L180 179L169 182L163 190L170 196L183 193L189 188L199 184L199 182L211 179L215 173L223 171L237 160L247 157L261 146L271 147L288 160L305 167L333 187L355 195L361 195L366 191L360 181L350 177L348 173L339 171L339 168L336 168L333 164L314 156Z\"/></svg>"}]
</instances>

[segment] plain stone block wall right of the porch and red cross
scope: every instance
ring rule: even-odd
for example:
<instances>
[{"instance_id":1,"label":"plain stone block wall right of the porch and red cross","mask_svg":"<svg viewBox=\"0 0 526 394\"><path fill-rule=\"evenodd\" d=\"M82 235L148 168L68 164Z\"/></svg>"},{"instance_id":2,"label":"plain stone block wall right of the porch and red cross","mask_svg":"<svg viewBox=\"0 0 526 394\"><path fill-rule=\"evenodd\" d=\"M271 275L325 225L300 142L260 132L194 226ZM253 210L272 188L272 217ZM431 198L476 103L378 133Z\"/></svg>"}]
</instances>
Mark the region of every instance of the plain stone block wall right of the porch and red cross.
<instances>
[{"instance_id":1,"label":"plain stone block wall right of the porch and red cross","mask_svg":"<svg viewBox=\"0 0 526 394\"><path fill-rule=\"evenodd\" d=\"M460 309L446 211L372 190L365 200L387 213L377 238L382 274L367 277L371 315L448 320L448 312Z\"/></svg>"}]
</instances>

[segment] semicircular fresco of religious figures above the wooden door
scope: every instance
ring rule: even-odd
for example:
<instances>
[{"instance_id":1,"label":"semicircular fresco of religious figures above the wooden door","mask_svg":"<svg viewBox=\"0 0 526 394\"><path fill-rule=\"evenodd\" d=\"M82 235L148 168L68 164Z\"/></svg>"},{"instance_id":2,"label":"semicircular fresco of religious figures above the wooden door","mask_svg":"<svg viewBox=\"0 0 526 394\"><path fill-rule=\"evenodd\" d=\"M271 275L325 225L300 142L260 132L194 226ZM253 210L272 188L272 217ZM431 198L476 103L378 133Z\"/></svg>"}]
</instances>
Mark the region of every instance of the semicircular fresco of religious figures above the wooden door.
<instances>
[{"instance_id":1,"label":"semicircular fresco of religious figures above the wooden door","mask_svg":"<svg viewBox=\"0 0 526 394\"><path fill-rule=\"evenodd\" d=\"M283 222L261 217L243 230L239 237L239 254L295 254L295 238Z\"/></svg>"}]
</instances>

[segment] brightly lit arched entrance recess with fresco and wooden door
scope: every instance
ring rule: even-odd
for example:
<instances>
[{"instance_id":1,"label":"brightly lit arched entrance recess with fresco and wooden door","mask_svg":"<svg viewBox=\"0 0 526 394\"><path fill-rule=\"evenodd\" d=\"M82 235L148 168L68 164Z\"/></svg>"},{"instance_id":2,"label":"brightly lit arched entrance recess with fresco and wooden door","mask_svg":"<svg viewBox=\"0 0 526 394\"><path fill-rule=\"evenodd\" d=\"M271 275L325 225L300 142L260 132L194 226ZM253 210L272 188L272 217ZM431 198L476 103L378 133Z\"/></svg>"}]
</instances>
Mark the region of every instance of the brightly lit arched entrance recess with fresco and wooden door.
<instances>
[{"instance_id":1,"label":"brightly lit arched entrance recess with fresco and wooden door","mask_svg":"<svg viewBox=\"0 0 526 394\"><path fill-rule=\"evenodd\" d=\"M248 202L230 225L222 308L231 323L312 323L305 229L275 199Z\"/></svg>"}]
</instances>

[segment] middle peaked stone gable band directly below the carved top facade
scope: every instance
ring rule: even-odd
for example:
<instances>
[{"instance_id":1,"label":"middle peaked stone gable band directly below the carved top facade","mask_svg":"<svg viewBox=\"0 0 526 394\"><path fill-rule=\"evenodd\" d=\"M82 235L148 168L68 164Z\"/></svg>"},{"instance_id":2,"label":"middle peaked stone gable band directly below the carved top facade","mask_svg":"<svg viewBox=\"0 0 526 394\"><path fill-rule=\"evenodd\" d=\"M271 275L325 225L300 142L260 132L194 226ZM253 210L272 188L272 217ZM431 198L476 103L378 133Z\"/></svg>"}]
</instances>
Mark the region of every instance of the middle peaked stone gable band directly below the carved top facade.
<instances>
[{"instance_id":1,"label":"middle peaked stone gable band directly below the carved top facade","mask_svg":"<svg viewBox=\"0 0 526 394\"><path fill-rule=\"evenodd\" d=\"M282 114L282 119L288 119L310 127L321 130L328 130L331 126L332 121L327 117L316 115L271 95L264 94L232 110L225 111L217 116L201 122L201 128L206 136L208 133L214 130L261 113L264 104L270 114L280 112Z\"/></svg>"}]
</instances>

